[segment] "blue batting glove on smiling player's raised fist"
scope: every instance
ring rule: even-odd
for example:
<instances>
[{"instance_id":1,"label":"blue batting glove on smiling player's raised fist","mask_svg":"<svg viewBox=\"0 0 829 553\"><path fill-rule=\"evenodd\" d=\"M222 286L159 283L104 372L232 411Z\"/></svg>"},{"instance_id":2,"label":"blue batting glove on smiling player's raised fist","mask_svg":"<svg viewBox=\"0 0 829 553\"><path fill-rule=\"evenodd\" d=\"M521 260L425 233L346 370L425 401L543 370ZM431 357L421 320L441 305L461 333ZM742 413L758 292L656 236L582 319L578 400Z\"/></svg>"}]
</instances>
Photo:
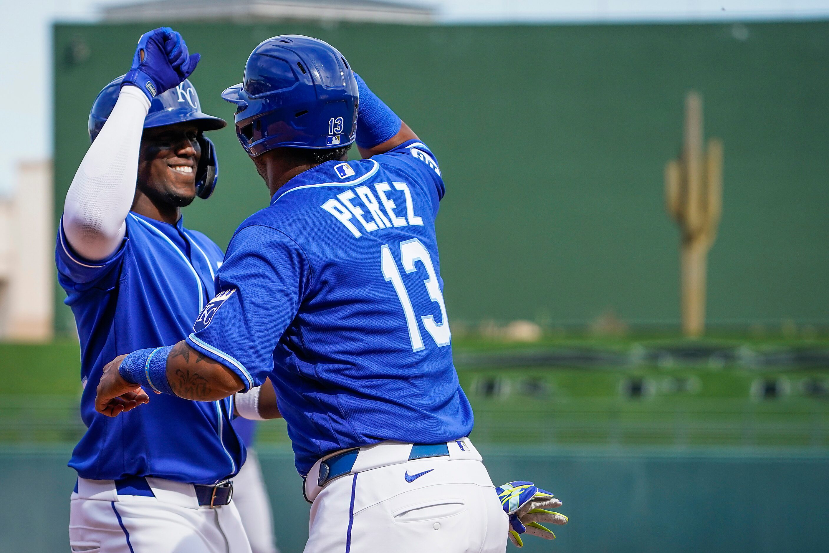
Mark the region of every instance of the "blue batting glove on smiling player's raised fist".
<instances>
[{"instance_id":1,"label":"blue batting glove on smiling player's raised fist","mask_svg":"<svg viewBox=\"0 0 829 553\"><path fill-rule=\"evenodd\" d=\"M190 55L179 32L170 27L158 27L138 39L133 66L121 86L138 86L152 102L165 90L187 79L200 58L198 54Z\"/></svg>"}]
</instances>

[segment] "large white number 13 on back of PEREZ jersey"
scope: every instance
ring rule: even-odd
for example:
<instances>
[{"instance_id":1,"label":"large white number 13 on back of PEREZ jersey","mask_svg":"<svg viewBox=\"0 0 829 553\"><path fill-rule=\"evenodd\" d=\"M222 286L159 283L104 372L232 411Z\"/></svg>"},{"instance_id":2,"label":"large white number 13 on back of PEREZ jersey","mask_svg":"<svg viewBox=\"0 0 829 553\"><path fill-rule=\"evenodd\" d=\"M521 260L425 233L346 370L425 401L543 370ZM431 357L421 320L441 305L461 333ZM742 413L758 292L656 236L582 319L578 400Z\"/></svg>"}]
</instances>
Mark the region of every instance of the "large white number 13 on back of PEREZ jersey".
<instances>
[{"instance_id":1,"label":"large white number 13 on back of PEREZ jersey","mask_svg":"<svg viewBox=\"0 0 829 553\"><path fill-rule=\"evenodd\" d=\"M424 348L423 337L420 334L417 317L414 315L414 308L409 299L409 292L403 284L403 278L400 276L400 270L397 269L395 258L391 255L389 246L384 244L381 250L381 269L383 276L386 282L391 282L395 287L397 298L400 299L400 305L403 307L406 326L409 327L412 351L419 352ZM424 245L420 243L420 240L416 238L400 242L400 263L403 264L406 273L414 273L417 270L414 264L418 261L423 264L426 269L426 274L429 277L423 281L423 284L426 285L426 291L429 293L429 298L440 306L441 322L435 323L432 315L423 315L420 319L423 321L423 326L426 328L426 331L434 339L434 343L438 344L438 346L448 346L449 342L452 341L452 333L449 332L444 294L440 291L438 275L434 273L432 256L429 255L429 250L426 250Z\"/></svg>"}]
</instances>

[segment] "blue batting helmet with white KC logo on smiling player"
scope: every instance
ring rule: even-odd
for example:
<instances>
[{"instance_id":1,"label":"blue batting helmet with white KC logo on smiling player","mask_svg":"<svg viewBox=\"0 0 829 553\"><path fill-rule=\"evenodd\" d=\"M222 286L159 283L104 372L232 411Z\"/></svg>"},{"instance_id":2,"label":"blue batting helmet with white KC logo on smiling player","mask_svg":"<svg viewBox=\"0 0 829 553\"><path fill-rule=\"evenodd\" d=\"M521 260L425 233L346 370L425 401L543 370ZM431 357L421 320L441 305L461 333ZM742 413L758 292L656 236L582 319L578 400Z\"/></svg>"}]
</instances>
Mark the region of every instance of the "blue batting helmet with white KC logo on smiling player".
<instances>
[{"instance_id":1,"label":"blue batting helmet with white KC logo on smiling player","mask_svg":"<svg viewBox=\"0 0 829 553\"><path fill-rule=\"evenodd\" d=\"M101 90L95 98L88 124L90 141L95 141L95 137L104 128L104 123L112 113L115 102L118 101L123 79L124 75L121 75L109 85L104 86L104 90ZM225 119L213 117L201 111L196 87L185 79L181 85L153 98L147 117L144 119L144 129L188 121L195 123L200 131L221 129L227 125ZM219 161L216 159L216 147L210 138L206 138L200 132L198 141L201 146L201 158L196 168L196 195L206 199L213 193L216 182L219 180Z\"/></svg>"}]
</instances>

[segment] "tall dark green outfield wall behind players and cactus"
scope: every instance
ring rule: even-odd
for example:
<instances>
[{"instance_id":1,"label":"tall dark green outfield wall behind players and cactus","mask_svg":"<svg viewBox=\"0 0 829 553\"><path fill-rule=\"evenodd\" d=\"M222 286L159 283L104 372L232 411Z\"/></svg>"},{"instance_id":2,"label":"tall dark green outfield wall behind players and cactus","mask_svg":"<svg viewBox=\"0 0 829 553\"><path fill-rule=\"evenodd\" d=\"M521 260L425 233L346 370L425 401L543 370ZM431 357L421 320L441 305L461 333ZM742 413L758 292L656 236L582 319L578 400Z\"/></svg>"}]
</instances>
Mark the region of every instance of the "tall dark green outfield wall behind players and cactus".
<instances>
[{"instance_id":1,"label":"tall dark green outfield wall behind players and cactus","mask_svg":"<svg viewBox=\"0 0 829 553\"><path fill-rule=\"evenodd\" d=\"M707 131L725 140L710 319L829 320L827 22L752 24L742 41L730 25L177 28L203 56L192 79L203 108L228 119L219 93L259 41L310 34L347 56L442 163L441 269L455 321L584 323L613 308L633 323L676 323L662 168L679 145L683 95L700 90ZM128 69L144 30L55 28L58 209L92 99ZM221 185L186 221L226 245L267 196L232 129L212 136Z\"/></svg>"}]
</instances>

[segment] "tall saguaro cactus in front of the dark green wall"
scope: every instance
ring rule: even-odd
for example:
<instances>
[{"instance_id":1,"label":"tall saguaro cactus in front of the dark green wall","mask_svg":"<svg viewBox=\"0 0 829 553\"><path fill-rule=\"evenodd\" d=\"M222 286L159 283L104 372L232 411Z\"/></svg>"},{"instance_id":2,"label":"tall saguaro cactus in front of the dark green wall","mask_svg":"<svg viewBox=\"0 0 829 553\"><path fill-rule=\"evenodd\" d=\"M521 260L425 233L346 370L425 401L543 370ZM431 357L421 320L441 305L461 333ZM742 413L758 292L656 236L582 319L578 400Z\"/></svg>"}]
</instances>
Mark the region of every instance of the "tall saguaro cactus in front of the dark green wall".
<instances>
[{"instance_id":1,"label":"tall saguaro cactus in front of the dark green wall","mask_svg":"<svg viewBox=\"0 0 829 553\"><path fill-rule=\"evenodd\" d=\"M681 230L682 332L705 331L705 272L722 213L723 145L711 138L703 152L702 99L685 99L685 129L679 159L665 167L667 210Z\"/></svg>"}]
</instances>

